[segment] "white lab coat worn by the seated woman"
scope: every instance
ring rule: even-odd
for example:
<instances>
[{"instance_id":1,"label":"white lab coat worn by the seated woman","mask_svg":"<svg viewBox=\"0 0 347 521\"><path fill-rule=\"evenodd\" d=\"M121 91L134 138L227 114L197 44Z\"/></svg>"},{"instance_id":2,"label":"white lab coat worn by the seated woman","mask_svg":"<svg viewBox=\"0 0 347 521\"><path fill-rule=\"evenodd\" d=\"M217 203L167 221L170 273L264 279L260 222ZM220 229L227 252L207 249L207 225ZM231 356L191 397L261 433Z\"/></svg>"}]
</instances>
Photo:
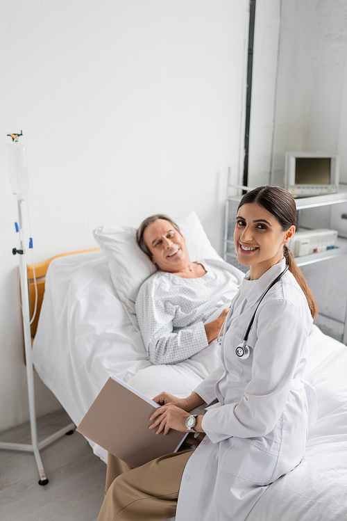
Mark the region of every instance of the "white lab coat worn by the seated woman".
<instances>
[{"instance_id":1,"label":"white lab coat worn by the seated woman","mask_svg":"<svg viewBox=\"0 0 347 521\"><path fill-rule=\"evenodd\" d=\"M232 300L222 364L196 388L208 405L205 439L185 467L176 521L242 521L269 483L303 457L315 392L303 382L312 316L287 271L260 303L248 335L249 358L235 354L255 307L285 260ZM235 306L237 303L237 306ZM234 312L237 308L236 312Z\"/></svg>"}]
</instances>

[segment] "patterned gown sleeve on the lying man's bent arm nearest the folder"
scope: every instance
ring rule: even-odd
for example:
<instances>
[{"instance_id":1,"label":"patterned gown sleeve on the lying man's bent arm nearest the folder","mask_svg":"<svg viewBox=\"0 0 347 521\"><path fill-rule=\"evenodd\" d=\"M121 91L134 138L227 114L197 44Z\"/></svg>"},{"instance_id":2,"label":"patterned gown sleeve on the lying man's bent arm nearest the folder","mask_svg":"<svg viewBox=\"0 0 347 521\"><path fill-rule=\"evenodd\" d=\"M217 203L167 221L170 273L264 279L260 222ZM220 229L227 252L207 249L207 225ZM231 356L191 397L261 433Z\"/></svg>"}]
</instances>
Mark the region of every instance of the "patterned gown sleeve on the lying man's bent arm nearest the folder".
<instances>
[{"instance_id":1,"label":"patterned gown sleeve on the lying man's bent arm nearest the folder","mask_svg":"<svg viewBox=\"0 0 347 521\"><path fill-rule=\"evenodd\" d=\"M152 364L176 364L208 346L203 322L174 331L176 306L160 298L155 284L144 284L137 296L136 314Z\"/></svg>"}]
</instances>

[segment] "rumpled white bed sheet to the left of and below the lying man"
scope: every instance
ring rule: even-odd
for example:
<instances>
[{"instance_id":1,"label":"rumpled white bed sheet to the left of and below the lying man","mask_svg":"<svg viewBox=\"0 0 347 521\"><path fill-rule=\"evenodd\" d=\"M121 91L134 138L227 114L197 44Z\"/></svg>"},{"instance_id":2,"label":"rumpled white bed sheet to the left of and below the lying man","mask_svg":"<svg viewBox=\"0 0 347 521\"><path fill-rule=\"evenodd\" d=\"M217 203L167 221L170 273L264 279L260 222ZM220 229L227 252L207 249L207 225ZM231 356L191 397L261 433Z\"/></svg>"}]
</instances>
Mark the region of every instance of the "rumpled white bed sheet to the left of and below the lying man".
<instances>
[{"instance_id":1,"label":"rumpled white bed sheet to the left of and below the lying man","mask_svg":"<svg viewBox=\"0 0 347 521\"><path fill-rule=\"evenodd\" d=\"M78 425L109 376L146 396L162 390L187 396L219 364L213 342L175 366L152 366L113 287L101 252L54 259L33 343L33 363L42 381ZM104 449L90 442L107 460Z\"/></svg>"}]
</instances>

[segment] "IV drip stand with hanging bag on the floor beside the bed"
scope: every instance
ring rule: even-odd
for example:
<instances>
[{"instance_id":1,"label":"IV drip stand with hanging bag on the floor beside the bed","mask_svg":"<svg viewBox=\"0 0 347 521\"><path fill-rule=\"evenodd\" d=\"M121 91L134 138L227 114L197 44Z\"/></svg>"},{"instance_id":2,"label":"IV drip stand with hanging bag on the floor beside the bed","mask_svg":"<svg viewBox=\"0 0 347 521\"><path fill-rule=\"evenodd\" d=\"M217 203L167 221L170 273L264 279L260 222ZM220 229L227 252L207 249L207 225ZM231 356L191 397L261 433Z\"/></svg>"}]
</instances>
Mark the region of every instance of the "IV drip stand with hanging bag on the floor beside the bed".
<instances>
[{"instance_id":1,"label":"IV drip stand with hanging bag on the floor beside the bed","mask_svg":"<svg viewBox=\"0 0 347 521\"><path fill-rule=\"evenodd\" d=\"M18 209L18 223L15 223L16 232L19 233L19 249L13 248L13 255L19 255L19 275L21 282L21 296L22 296L22 317L23 317L23 331L24 331L24 350L26 355L26 377L28 385L28 402L29 415L31 426L31 444L0 442L0 449L7 449L12 451L28 451L33 452L37 465L37 470L40 475L39 485L46 485L48 479L44 472L42 460L40 456L40 449L43 449L52 442L58 440L62 435L67 434L74 429L74 424L60 428L59 431L53 433L48 438L37 442L37 425L35 414L35 390L34 390L34 375L33 362L31 352L31 323L35 317L37 289L35 288L35 309L33 317L30 316L30 302L28 294L28 274L26 268L26 250L33 248L33 240L26 237L24 230L24 223L22 217L22 203L26 199L26 192L28 190L28 166L26 161L26 149L22 143L19 143L20 134L8 134L12 138L12 143L6 144L8 173L10 177L10 186L12 193L16 196ZM35 280L35 275L34 275Z\"/></svg>"}]
</instances>

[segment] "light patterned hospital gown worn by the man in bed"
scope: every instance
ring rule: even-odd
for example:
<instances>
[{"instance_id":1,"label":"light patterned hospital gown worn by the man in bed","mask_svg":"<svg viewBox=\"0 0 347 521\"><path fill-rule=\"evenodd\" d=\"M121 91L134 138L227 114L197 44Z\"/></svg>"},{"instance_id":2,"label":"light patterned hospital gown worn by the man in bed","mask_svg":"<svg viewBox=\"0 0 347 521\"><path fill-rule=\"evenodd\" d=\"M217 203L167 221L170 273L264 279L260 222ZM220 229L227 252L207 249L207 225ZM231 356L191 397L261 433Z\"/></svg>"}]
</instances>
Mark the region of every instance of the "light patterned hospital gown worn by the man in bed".
<instances>
[{"instance_id":1,"label":"light patterned hospital gown worn by the man in bed","mask_svg":"<svg viewBox=\"0 0 347 521\"><path fill-rule=\"evenodd\" d=\"M198 262L207 272L203 277L158 271L139 290L135 309L152 364L176 364L207 347L205 321L229 307L244 277L218 259Z\"/></svg>"}]
</instances>

